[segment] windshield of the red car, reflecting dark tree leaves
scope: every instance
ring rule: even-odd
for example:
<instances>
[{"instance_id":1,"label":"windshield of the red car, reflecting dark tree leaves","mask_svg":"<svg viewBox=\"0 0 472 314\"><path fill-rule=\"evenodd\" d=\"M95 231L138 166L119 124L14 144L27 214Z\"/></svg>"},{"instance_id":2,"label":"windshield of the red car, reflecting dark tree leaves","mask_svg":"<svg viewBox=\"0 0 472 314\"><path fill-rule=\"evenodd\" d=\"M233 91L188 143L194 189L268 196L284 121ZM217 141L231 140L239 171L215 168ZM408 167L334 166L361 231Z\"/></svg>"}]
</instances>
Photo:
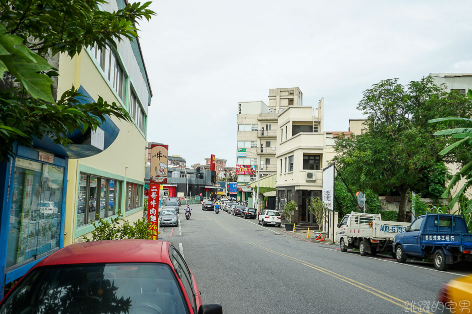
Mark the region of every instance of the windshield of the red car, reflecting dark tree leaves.
<instances>
[{"instance_id":1,"label":"windshield of the red car, reflecting dark tree leaves","mask_svg":"<svg viewBox=\"0 0 472 314\"><path fill-rule=\"evenodd\" d=\"M188 313L165 264L89 264L33 270L0 314ZM148 309L157 309L149 311Z\"/></svg>"}]
</instances>

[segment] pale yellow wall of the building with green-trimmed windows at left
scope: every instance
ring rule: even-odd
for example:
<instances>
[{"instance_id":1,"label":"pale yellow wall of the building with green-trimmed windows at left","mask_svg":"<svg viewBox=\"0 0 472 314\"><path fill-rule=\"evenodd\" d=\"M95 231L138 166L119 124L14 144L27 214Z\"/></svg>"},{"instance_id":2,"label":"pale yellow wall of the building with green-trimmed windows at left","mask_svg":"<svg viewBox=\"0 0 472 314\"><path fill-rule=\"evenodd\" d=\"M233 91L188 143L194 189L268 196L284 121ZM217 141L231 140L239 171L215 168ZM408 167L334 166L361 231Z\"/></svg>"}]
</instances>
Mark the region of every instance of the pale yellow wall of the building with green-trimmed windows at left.
<instances>
[{"instance_id":1,"label":"pale yellow wall of the building with green-trimmed windows at left","mask_svg":"<svg viewBox=\"0 0 472 314\"><path fill-rule=\"evenodd\" d=\"M94 100L97 100L98 95L100 95L109 103L115 102L125 106L117 94L114 93L114 90L111 89L107 80L101 75L101 68L94 63L85 50L72 59L67 55L61 55L59 58L59 72L58 95L70 89L72 85L76 89L81 85ZM127 84L126 95L126 98L128 98L129 82ZM147 103L147 100L144 103ZM121 193L121 212L124 212L125 219L131 223L143 215L143 207L125 212L124 206L127 203L125 201L127 198L125 197L125 195L127 196L127 189L125 187L128 180L132 180L133 183L144 184L144 172L147 163L145 150L147 142L145 136L134 123L125 122L116 117L110 118L120 130L115 141L105 151L95 156L69 159L64 246L80 241L78 239L83 236L91 238L90 231L93 230L93 227L90 225L88 228L85 228L88 229L86 230L88 232L84 234L84 228L80 228L82 230L78 232L76 227L78 179L80 168L83 166L95 169L94 171L92 170L92 174L100 176L103 173L110 173L117 179L124 178Z\"/></svg>"}]
</instances>

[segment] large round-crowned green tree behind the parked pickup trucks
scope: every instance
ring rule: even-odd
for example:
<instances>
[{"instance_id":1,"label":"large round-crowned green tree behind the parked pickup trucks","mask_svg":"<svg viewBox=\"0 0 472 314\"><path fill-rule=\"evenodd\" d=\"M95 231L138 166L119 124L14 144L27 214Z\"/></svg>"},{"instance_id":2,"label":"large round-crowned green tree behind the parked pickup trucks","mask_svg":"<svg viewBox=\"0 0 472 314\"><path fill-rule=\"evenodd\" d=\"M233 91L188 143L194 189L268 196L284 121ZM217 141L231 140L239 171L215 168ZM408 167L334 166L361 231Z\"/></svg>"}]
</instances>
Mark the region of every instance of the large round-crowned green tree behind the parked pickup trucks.
<instances>
[{"instance_id":1,"label":"large round-crowned green tree behind the parked pickup trucks","mask_svg":"<svg viewBox=\"0 0 472 314\"><path fill-rule=\"evenodd\" d=\"M406 86L398 79L381 81L364 92L358 105L367 115L367 132L340 138L335 145L339 154L335 164L343 177L356 182L361 190L400 194L397 220L405 221L410 192L428 190L434 179L431 192L439 197L443 190L438 186L443 182L444 187L446 180L440 163L470 155L465 151L463 155L438 155L448 140L433 137L436 130L428 121L459 114L471 117L471 108L470 99L446 92L431 77Z\"/></svg>"}]
</instances>

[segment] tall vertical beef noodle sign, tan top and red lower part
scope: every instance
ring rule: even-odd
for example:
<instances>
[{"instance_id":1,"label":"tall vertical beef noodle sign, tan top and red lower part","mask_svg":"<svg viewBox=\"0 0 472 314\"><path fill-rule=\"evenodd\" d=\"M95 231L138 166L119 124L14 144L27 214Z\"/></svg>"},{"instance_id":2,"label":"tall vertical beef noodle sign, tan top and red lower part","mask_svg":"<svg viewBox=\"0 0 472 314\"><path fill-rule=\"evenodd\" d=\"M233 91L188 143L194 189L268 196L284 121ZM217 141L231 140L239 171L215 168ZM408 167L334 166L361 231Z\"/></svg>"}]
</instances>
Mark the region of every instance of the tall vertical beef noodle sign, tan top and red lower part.
<instances>
[{"instance_id":1,"label":"tall vertical beef noodle sign, tan top and red lower part","mask_svg":"<svg viewBox=\"0 0 472 314\"><path fill-rule=\"evenodd\" d=\"M149 198L147 219L151 222L152 240L157 240L159 226L159 185L167 183L168 145L151 145L151 173L149 176Z\"/></svg>"}]
</instances>

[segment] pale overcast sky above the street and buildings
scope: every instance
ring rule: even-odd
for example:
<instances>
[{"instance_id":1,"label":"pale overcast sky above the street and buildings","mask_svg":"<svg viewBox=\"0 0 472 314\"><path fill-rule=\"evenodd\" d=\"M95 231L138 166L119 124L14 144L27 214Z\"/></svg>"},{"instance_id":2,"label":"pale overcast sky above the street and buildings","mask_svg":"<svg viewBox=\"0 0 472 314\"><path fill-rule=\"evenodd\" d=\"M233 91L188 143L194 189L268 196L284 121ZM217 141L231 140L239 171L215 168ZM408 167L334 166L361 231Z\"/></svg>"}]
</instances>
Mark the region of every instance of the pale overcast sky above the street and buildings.
<instances>
[{"instance_id":1,"label":"pale overcast sky above the street and buildings","mask_svg":"<svg viewBox=\"0 0 472 314\"><path fill-rule=\"evenodd\" d=\"M325 130L347 131L382 79L472 72L468 1L154 0L140 25L151 82L147 139L187 165L236 162L237 104L269 88L325 98Z\"/></svg>"}]
</instances>

